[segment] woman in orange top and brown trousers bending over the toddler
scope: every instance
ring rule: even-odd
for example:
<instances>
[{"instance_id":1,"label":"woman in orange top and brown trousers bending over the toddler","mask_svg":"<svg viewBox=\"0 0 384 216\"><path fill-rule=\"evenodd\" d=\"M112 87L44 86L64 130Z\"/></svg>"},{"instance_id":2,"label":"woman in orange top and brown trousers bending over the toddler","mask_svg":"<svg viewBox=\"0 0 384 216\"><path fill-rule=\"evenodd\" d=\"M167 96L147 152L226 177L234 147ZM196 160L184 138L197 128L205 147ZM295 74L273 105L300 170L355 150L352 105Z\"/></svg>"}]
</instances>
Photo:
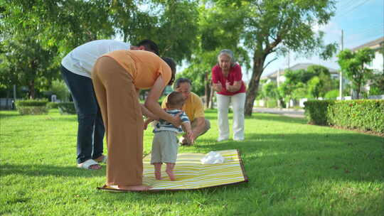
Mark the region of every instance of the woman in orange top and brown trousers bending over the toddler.
<instances>
[{"instance_id":1,"label":"woman in orange top and brown trousers bending over the toddler","mask_svg":"<svg viewBox=\"0 0 384 216\"><path fill-rule=\"evenodd\" d=\"M107 135L107 186L119 190L149 189L142 184L142 114L154 114L175 126L181 124L180 117L167 114L157 102L176 73L174 61L164 60L143 50L116 50L95 63L92 82ZM139 90L149 88L143 106L139 104Z\"/></svg>"}]
</instances>

